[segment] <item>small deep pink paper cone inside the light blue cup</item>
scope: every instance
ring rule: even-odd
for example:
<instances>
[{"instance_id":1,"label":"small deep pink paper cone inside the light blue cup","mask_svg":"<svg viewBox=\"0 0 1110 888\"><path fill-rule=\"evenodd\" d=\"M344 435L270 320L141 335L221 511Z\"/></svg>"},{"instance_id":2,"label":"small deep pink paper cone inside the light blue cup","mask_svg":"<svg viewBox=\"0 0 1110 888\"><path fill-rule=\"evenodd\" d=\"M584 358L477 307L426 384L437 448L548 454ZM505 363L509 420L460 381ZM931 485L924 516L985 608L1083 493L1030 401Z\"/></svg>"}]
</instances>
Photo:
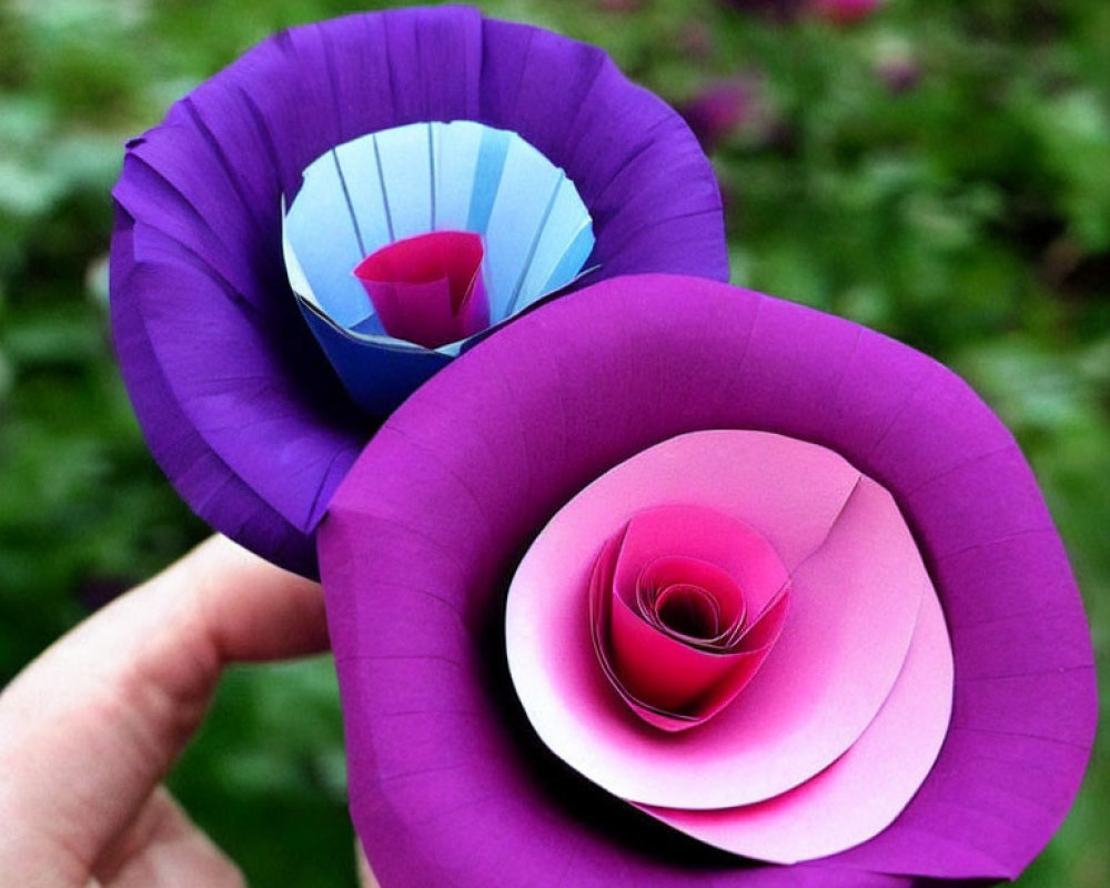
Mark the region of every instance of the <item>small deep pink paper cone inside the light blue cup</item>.
<instances>
[{"instance_id":1,"label":"small deep pink paper cone inside the light blue cup","mask_svg":"<svg viewBox=\"0 0 1110 888\"><path fill-rule=\"evenodd\" d=\"M394 241L354 269L391 336L437 349L490 325L482 238L434 231Z\"/></svg>"}]
</instances>

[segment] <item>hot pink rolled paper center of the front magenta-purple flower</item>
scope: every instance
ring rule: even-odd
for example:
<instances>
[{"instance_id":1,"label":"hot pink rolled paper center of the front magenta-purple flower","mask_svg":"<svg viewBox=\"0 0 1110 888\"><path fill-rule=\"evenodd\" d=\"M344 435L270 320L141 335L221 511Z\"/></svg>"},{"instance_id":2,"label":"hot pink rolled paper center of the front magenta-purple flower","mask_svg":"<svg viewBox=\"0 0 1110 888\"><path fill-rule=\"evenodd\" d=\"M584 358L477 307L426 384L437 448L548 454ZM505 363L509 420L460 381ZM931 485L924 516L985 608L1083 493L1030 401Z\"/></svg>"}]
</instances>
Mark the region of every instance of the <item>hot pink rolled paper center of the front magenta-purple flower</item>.
<instances>
[{"instance_id":1,"label":"hot pink rolled paper center of the front magenta-purple flower","mask_svg":"<svg viewBox=\"0 0 1110 888\"><path fill-rule=\"evenodd\" d=\"M598 663L640 718L686 730L755 677L786 618L785 571L755 529L700 506L633 516L589 578Z\"/></svg>"}]
</instances>

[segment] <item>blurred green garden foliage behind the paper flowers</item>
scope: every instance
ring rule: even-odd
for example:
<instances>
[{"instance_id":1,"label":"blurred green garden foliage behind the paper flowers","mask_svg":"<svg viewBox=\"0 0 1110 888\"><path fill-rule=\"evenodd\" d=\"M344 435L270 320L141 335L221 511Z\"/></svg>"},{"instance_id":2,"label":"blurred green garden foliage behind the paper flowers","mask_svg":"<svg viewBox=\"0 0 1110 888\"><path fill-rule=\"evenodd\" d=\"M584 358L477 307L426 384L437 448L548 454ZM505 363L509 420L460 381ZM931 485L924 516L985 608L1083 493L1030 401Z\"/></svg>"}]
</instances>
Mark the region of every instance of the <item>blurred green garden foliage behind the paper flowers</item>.
<instances>
[{"instance_id":1,"label":"blurred green garden foliage behind the paper flowers","mask_svg":"<svg viewBox=\"0 0 1110 888\"><path fill-rule=\"evenodd\" d=\"M487 0L605 47L684 109L733 280L948 363L1015 430L1110 627L1110 3ZM796 4L795 4L796 6ZM0 680L200 539L147 454L107 323L123 141L337 0L0 0ZM1106 680L1103 680L1103 686ZM1104 712L1103 707L1103 712ZM255 886L353 886L326 659L234 669L171 778ZM1103 741L1020 884L1106 886Z\"/></svg>"}]
</instances>

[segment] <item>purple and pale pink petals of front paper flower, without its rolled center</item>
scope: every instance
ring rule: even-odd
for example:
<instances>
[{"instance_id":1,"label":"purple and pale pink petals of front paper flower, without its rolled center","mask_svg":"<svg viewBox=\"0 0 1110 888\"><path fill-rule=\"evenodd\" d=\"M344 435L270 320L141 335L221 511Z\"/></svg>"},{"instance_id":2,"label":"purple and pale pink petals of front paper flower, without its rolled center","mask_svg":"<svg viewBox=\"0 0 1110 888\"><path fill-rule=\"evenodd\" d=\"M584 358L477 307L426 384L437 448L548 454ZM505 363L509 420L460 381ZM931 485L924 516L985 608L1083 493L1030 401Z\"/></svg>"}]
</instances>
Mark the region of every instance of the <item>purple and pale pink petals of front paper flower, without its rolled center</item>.
<instances>
[{"instance_id":1,"label":"purple and pale pink petals of front paper flower, without its rolled center","mask_svg":"<svg viewBox=\"0 0 1110 888\"><path fill-rule=\"evenodd\" d=\"M790 575L764 666L682 733L629 709L587 616L598 554L659 506L757 528ZM928 357L756 293L633 276L521 319L382 426L320 551L385 888L1011 878L1090 751L1088 628L1012 437ZM894 785L861 844L756 859Z\"/></svg>"}]
</instances>

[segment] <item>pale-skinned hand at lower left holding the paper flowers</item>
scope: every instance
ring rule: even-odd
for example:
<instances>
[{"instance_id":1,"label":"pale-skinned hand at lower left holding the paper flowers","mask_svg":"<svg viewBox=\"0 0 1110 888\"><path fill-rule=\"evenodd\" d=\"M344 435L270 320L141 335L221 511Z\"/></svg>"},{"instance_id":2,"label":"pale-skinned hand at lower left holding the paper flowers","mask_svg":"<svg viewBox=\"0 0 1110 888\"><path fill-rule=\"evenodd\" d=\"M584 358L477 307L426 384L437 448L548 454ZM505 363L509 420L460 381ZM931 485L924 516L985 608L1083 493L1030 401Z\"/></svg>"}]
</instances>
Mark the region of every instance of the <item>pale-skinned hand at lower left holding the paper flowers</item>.
<instances>
[{"instance_id":1,"label":"pale-skinned hand at lower left holding the paper flowers","mask_svg":"<svg viewBox=\"0 0 1110 888\"><path fill-rule=\"evenodd\" d=\"M3 884L244 886L162 780L224 666L326 648L320 586L222 537L54 643L0 693Z\"/></svg>"}]
</instances>

